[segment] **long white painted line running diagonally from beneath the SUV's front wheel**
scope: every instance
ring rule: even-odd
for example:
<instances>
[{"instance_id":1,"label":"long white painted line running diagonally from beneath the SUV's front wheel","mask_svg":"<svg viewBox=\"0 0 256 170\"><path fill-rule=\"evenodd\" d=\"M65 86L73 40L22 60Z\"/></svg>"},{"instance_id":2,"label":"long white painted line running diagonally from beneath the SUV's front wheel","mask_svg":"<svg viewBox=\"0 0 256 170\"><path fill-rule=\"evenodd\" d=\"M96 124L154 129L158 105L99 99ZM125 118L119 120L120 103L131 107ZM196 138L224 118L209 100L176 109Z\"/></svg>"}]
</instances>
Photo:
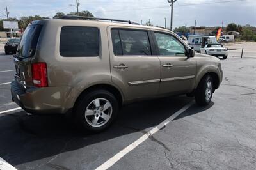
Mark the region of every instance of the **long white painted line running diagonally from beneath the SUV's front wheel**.
<instances>
[{"instance_id":1,"label":"long white painted line running diagonally from beneath the SUV's front wheel","mask_svg":"<svg viewBox=\"0 0 256 170\"><path fill-rule=\"evenodd\" d=\"M152 130L150 130L150 132L147 132L147 134L141 136L139 139L134 141L134 143L129 144L129 146L127 146L122 151L120 151L116 155L114 155L112 158L110 158L109 160L104 162L101 166L97 167L97 170L108 169L109 167L113 166L113 164L115 164L118 160L120 160L120 158L124 157L124 155L126 155L130 151L134 150L134 148L136 148L139 144L146 141L146 139L148 139L148 137L150 137L150 135L153 135L156 132L158 132L159 129L163 128L165 125L170 123L170 121L174 120L177 116L179 116L179 114L186 111L193 104L194 104L194 102L189 102L188 104L186 104L179 111L175 112L175 114L172 114L172 116L170 116L169 118L164 120L162 123L160 123L156 127L152 128Z\"/></svg>"}]
</instances>

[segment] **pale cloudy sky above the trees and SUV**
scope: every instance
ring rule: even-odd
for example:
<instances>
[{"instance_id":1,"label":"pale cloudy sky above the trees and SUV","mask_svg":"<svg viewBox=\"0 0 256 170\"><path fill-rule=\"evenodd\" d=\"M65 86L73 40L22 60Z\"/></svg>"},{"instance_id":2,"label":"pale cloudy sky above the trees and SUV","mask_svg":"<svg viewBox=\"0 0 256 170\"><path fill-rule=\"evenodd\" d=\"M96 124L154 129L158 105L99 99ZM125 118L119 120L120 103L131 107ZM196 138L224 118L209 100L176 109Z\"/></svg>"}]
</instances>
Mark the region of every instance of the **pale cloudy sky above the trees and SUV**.
<instances>
[{"instance_id":1,"label":"pale cloudy sky above the trees and SUV","mask_svg":"<svg viewBox=\"0 0 256 170\"><path fill-rule=\"evenodd\" d=\"M79 11L88 10L95 17L132 20L154 26L170 27L170 3L167 0L78 0ZM75 12L76 0L0 0L0 18L41 15L53 17L56 12ZM256 26L256 0L177 0L173 5L173 27L224 26L250 24Z\"/></svg>"}]
</instances>

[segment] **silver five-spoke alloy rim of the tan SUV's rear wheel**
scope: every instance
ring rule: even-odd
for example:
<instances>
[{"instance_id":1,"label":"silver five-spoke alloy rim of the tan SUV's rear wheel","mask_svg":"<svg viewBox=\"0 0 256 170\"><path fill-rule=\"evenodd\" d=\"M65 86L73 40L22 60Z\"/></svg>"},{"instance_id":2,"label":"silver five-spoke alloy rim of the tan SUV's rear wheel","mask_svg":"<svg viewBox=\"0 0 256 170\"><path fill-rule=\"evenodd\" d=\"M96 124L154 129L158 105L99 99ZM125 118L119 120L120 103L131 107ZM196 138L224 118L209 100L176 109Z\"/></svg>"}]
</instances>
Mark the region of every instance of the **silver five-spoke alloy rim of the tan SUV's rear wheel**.
<instances>
[{"instance_id":1,"label":"silver five-spoke alloy rim of the tan SUV's rear wheel","mask_svg":"<svg viewBox=\"0 0 256 170\"><path fill-rule=\"evenodd\" d=\"M88 104L84 116L92 127L102 127L108 123L112 112L112 105L106 98L96 98Z\"/></svg>"}]
</instances>

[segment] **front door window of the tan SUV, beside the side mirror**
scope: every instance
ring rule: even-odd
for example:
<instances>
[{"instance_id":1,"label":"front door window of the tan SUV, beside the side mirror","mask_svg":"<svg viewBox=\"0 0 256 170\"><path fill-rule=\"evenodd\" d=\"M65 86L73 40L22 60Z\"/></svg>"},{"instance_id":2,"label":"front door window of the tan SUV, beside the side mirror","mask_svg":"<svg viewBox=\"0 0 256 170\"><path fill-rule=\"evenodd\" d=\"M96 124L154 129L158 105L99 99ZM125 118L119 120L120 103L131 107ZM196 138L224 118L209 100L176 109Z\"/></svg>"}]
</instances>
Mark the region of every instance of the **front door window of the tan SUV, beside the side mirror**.
<instances>
[{"instance_id":1,"label":"front door window of the tan SUV, beside the side mirror","mask_svg":"<svg viewBox=\"0 0 256 170\"><path fill-rule=\"evenodd\" d=\"M176 38L163 33L154 33L160 56L185 56L185 47Z\"/></svg>"}]
</instances>

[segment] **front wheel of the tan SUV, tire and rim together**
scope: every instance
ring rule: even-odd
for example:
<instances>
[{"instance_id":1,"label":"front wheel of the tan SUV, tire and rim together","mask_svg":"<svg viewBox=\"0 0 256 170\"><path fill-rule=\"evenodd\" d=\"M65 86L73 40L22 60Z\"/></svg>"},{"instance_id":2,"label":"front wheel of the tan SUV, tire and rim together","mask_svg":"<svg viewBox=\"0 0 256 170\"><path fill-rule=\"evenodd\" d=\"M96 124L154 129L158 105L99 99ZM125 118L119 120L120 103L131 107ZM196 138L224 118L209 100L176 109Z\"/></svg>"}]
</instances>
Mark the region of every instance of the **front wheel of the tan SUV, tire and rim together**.
<instances>
[{"instance_id":1,"label":"front wheel of the tan SUV, tire and rim together","mask_svg":"<svg viewBox=\"0 0 256 170\"><path fill-rule=\"evenodd\" d=\"M210 75L202 78L195 92L195 100L198 105L208 105L212 99L214 91L213 79Z\"/></svg>"}]
</instances>

